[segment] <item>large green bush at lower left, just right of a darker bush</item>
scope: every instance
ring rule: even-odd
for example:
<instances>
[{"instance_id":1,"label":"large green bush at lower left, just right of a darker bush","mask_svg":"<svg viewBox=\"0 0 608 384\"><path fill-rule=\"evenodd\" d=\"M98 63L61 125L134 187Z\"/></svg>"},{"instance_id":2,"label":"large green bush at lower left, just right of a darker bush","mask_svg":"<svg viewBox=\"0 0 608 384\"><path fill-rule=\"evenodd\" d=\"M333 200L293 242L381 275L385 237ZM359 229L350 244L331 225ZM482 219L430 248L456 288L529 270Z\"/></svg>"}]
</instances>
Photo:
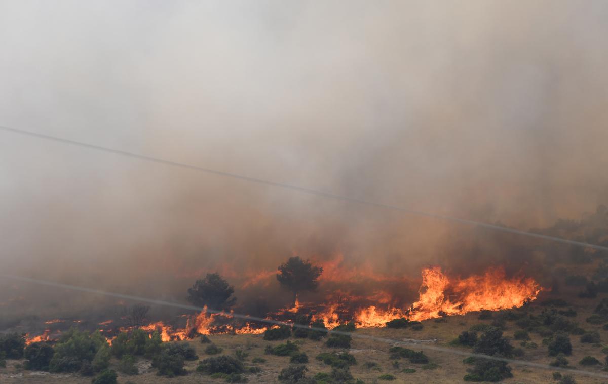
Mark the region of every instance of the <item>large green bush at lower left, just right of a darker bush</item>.
<instances>
[{"instance_id":1,"label":"large green bush at lower left, just right of a darker bush","mask_svg":"<svg viewBox=\"0 0 608 384\"><path fill-rule=\"evenodd\" d=\"M80 370L83 361L91 363L102 346L107 346L107 343L99 332L89 334L72 328L63 334L55 345L55 354L49 362L49 370L76 372Z\"/></svg>"}]
</instances>

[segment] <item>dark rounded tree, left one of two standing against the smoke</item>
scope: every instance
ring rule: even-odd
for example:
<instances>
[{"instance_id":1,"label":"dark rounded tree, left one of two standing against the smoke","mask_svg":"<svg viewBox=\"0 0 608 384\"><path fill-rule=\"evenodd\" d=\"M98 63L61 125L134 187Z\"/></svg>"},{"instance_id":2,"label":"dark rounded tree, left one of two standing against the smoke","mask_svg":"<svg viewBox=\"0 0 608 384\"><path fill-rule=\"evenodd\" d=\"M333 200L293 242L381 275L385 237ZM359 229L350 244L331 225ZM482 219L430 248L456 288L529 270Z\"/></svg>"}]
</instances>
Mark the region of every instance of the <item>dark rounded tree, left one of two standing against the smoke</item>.
<instances>
[{"instance_id":1,"label":"dark rounded tree, left one of two standing against the smoke","mask_svg":"<svg viewBox=\"0 0 608 384\"><path fill-rule=\"evenodd\" d=\"M188 288L188 301L195 306L209 309L229 309L237 301L231 297L234 287L230 286L219 273L207 273L202 279L196 280L192 288Z\"/></svg>"}]
</instances>

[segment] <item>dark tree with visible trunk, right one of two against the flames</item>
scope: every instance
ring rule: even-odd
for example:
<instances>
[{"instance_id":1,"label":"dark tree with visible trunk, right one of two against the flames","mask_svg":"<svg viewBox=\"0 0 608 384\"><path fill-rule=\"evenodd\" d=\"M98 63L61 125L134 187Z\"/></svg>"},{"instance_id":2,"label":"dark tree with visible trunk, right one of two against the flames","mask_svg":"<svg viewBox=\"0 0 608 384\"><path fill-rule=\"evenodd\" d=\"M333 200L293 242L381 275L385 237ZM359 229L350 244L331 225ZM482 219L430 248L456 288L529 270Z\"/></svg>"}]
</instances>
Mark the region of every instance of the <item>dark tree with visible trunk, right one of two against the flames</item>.
<instances>
[{"instance_id":1,"label":"dark tree with visible trunk, right one of two against the flames","mask_svg":"<svg viewBox=\"0 0 608 384\"><path fill-rule=\"evenodd\" d=\"M278 266L277 280L294 294L293 304L298 293L303 290L315 290L319 286L319 276L323 273L322 267L313 266L310 261L295 256Z\"/></svg>"}]
</instances>

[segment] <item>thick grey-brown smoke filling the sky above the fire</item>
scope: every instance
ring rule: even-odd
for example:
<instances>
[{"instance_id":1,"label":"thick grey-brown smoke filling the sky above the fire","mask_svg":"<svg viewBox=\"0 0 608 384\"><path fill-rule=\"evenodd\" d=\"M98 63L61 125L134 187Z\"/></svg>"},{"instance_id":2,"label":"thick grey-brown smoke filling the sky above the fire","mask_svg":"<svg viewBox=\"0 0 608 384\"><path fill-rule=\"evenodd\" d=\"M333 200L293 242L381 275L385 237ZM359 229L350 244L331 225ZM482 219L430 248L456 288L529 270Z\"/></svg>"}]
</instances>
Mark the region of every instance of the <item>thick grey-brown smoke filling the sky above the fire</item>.
<instances>
[{"instance_id":1,"label":"thick grey-brown smoke filling the sky above the fire","mask_svg":"<svg viewBox=\"0 0 608 384\"><path fill-rule=\"evenodd\" d=\"M608 201L607 18L603 1L5 1L0 124L544 227ZM155 297L292 255L414 279L528 262L528 240L7 132L0 191L4 272Z\"/></svg>"}]
</instances>

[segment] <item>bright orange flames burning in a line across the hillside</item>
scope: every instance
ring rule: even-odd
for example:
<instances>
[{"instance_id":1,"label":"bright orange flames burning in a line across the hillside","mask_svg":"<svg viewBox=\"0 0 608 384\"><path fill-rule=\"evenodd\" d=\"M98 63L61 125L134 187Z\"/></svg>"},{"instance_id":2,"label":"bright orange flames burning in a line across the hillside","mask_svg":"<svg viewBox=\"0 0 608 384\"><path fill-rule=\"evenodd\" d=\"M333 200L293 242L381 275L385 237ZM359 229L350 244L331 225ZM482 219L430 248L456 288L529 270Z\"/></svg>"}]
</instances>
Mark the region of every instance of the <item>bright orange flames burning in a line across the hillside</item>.
<instances>
[{"instance_id":1,"label":"bright orange flames burning in a line across the hillside","mask_svg":"<svg viewBox=\"0 0 608 384\"><path fill-rule=\"evenodd\" d=\"M336 303L322 305L311 305L296 300L295 306L280 309L269 314L267 318L291 322L296 315L312 314L313 321L322 320L328 329L349 321L354 321L356 326L363 328L382 327L398 318L423 321L444 316L465 315L480 310L521 307L525 303L536 300L542 290L533 278L523 275L506 277L502 267L491 268L481 275L471 275L467 278L448 278L437 266L423 269L421 273L423 281L418 290L418 300L407 309L390 306L382 309L375 305L352 309L348 307L351 304L348 297ZM381 292L374 297L384 296L385 294ZM390 300L378 300L378 303L387 301ZM268 329L253 322L235 324L230 312L209 314L206 308L197 315L183 316L187 317L184 328L173 327L163 321L140 328L147 332L159 332L162 341L192 340L197 335L210 334L262 334ZM63 320L52 320L47 321L47 324L62 322ZM108 320L100 324L111 323L112 321ZM120 331L129 331L129 329L121 328ZM50 329L46 329L42 335L28 337L27 343L51 340L49 334Z\"/></svg>"}]
</instances>

